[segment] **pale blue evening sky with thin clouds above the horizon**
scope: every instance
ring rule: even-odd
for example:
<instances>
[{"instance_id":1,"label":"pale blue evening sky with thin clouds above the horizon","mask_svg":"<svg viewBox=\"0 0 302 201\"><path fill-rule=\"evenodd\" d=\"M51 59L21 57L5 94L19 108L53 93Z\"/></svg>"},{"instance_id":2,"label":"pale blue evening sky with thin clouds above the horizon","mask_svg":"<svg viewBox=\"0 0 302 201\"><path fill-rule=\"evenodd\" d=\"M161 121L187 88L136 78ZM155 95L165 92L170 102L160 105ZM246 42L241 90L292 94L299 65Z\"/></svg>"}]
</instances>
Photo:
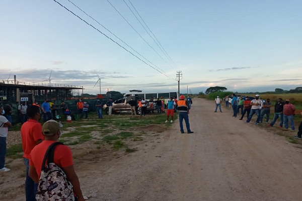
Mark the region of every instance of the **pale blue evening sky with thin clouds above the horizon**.
<instances>
[{"instance_id":1,"label":"pale blue evening sky with thin clouds above the horizon","mask_svg":"<svg viewBox=\"0 0 302 201\"><path fill-rule=\"evenodd\" d=\"M97 81L101 93L177 91L178 79L181 93L294 89L301 10L300 0L2 1L0 81L90 94Z\"/></svg>"}]
</instances>

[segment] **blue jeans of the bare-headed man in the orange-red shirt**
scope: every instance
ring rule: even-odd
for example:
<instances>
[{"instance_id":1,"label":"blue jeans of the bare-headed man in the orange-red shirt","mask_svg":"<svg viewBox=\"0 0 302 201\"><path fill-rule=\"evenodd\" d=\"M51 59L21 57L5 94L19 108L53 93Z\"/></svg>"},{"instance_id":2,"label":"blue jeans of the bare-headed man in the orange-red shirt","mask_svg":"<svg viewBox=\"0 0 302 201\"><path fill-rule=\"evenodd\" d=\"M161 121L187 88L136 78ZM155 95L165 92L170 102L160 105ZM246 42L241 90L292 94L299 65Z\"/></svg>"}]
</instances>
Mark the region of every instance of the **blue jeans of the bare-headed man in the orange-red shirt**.
<instances>
[{"instance_id":1,"label":"blue jeans of the bare-headed man in the orange-red shirt","mask_svg":"<svg viewBox=\"0 0 302 201\"><path fill-rule=\"evenodd\" d=\"M25 179L25 196L26 201L35 201L36 200L36 193L38 184L35 183L29 176L28 176L28 169L29 169L29 159L23 158L24 164L26 167L26 179Z\"/></svg>"}]
</instances>

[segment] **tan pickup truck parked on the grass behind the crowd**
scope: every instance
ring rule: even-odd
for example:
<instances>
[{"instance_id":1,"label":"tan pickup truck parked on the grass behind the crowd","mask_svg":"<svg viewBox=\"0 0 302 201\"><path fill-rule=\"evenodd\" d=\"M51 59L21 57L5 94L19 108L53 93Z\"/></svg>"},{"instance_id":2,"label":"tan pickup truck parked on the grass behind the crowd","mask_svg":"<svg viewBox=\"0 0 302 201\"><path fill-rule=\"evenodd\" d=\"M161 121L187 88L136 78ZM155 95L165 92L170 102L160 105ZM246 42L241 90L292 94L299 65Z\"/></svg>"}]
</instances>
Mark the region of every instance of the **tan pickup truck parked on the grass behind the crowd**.
<instances>
[{"instance_id":1,"label":"tan pickup truck parked on the grass behind the crowd","mask_svg":"<svg viewBox=\"0 0 302 201\"><path fill-rule=\"evenodd\" d=\"M138 100L137 97L132 96L134 100ZM112 106L112 114L122 114L122 113L131 113L129 100L131 99L131 96L123 97L118 100L115 100L113 102ZM154 110L157 109L156 104L152 101L148 101L149 106L147 107L148 113L154 113ZM138 109L138 101L136 106L136 114L140 115L140 111ZM104 105L103 110L106 112L106 114L109 114L109 107Z\"/></svg>"}]
</instances>

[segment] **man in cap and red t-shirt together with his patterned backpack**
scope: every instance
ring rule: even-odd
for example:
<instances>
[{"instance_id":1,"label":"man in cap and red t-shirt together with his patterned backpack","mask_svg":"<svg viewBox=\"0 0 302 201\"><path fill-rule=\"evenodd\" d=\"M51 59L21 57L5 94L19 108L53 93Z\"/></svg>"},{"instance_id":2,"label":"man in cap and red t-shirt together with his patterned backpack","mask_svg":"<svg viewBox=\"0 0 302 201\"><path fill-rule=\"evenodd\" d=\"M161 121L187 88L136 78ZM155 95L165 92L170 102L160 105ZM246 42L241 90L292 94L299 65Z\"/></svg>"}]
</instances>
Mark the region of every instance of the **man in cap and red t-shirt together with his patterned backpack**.
<instances>
[{"instance_id":1,"label":"man in cap and red t-shirt together with his patterned backpack","mask_svg":"<svg viewBox=\"0 0 302 201\"><path fill-rule=\"evenodd\" d=\"M57 144L53 151L53 160L48 161L48 165L44 169L44 156L49 146L53 143L56 143L59 139L61 135L60 127L61 124L54 120L45 122L42 127L42 134L45 136L45 140L39 145L35 146L30 153L29 176L35 182L39 183L36 199L52 200L51 197L59 196L61 198L60 200L74 200L74 193L77 197L75 200L84 201L85 199L82 194L79 178L77 173L74 171L72 153L68 146L60 143ZM44 172L41 171L42 167ZM47 169L49 172L48 175L50 176L49 178L47 178L45 175L45 170ZM59 170L53 172L51 171L52 169ZM57 175L59 175L57 179L60 180L57 182L58 185L54 185L52 183L52 185L49 186L49 182L54 180L53 176ZM72 184L72 186L69 182ZM66 185L68 185L68 189ZM47 189L46 192L45 189Z\"/></svg>"}]
</instances>

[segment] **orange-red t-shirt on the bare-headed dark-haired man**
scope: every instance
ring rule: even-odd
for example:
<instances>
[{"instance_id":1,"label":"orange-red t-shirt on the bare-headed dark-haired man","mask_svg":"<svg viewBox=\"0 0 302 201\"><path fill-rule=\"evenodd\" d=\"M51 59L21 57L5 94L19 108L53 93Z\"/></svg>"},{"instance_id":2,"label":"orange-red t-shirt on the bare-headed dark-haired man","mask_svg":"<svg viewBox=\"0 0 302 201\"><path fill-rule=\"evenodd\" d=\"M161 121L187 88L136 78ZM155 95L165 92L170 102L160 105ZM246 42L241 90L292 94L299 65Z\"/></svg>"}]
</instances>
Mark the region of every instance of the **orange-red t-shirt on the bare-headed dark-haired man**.
<instances>
[{"instance_id":1,"label":"orange-red t-shirt on the bare-headed dark-haired man","mask_svg":"<svg viewBox=\"0 0 302 201\"><path fill-rule=\"evenodd\" d=\"M23 157L29 159L31 150L36 146L38 140L44 140L42 134L42 125L36 121L29 119L21 127Z\"/></svg>"}]
</instances>

